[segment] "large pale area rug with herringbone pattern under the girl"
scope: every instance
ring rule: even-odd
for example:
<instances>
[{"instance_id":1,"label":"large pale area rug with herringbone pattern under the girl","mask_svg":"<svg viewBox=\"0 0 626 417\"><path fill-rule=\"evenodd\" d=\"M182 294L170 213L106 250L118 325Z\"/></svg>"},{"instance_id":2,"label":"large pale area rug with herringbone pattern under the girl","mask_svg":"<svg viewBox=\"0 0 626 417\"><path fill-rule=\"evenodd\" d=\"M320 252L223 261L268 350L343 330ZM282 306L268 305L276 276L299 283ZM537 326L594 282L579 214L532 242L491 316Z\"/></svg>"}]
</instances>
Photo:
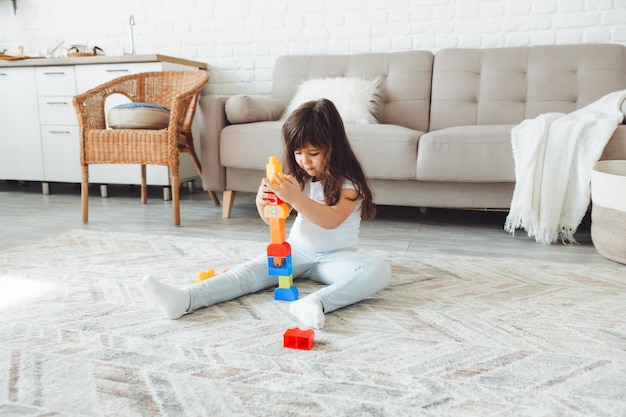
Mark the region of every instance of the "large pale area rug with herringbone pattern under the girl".
<instances>
[{"instance_id":1,"label":"large pale area rug with herringbone pattern under the girl","mask_svg":"<svg viewBox=\"0 0 626 417\"><path fill-rule=\"evenodd\" d=\"M264 242L73 231L0 253L2 416L624 416L626 269L366 250L390 287L311 351L272 291L163 319ZM318 284L297 280L301 294Z\"/></svg>"}]
</instances>

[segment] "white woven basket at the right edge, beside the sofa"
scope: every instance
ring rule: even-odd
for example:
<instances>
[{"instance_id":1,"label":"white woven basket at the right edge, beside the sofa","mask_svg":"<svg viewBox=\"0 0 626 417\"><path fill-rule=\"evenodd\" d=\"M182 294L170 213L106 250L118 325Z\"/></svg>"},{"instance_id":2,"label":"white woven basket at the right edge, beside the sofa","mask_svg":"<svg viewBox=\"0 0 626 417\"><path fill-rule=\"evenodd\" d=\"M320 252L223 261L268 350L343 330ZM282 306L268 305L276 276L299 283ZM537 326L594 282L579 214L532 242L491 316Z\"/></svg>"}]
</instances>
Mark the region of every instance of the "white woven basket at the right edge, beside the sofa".
<instances>
[{"instance_id":1,"label":"white woven basket at the right edge, beside the sofa","mask_svg":"<svg viewBox=\"0 0 626 417\"><path fill-rule=\"evenodd\" d=\"M591 173L591 239L598 253L626 264L626 161L600 161Z\"/></svg>"}]
</instances>

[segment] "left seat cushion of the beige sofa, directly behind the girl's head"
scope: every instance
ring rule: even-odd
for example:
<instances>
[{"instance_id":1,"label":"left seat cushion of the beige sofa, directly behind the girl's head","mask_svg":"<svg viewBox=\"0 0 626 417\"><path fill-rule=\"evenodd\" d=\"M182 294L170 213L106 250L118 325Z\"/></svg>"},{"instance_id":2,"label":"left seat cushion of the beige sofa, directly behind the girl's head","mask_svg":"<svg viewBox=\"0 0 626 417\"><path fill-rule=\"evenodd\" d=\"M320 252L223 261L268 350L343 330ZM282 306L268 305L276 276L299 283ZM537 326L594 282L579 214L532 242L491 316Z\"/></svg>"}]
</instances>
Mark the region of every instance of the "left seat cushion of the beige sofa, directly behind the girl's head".
<instances>
[{"instance_id":1,"label":"left seat cushion of the beige sofa, directly behind the girl's head","mask_svg":"<svg viewBox=\"0 0 626 417\"><path fill-rule=\"evenodd\" d=\"M228 168L265 170L267 157L283 154L282 122L226 126L220 163ZM415 179L417 142L422 132L395 125L346 125L354 152L370 178Z\"/></svg>"}]
</instances>

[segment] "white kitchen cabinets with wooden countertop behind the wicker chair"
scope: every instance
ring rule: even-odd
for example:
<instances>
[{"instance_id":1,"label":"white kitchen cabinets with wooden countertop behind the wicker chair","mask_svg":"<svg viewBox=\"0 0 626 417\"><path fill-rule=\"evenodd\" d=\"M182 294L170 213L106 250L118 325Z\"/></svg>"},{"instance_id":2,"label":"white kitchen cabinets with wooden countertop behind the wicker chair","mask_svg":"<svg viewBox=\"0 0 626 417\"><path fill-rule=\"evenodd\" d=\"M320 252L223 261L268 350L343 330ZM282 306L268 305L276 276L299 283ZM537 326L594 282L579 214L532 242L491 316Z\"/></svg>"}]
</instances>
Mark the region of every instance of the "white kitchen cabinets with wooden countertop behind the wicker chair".
<instances>
[{"instance_id":1,"label":"white kitchen cabinets with wooden countertop behind the wicker chair","mask_svg":"<svg viewBox=\"0 0 626 417\"><path fill-rule=\"evenodd\" d=\"M15 67L15 68L14 68ZM206 69L206 65L163 55L89 57L0 62L0 179L81 182L78 123L74 95L127 74ZM116 95L106 110L129 101ZM6 119L6 120L5 120ZM196 152L200 152L195 132ZM191 158L182 154L180 181L198 177ZM139 165L90 165L89 182L140 184ZM148 165L148 185L170 186L168 168ZM168 196L166 192L164 196Z\"/></svg>"}]
</instances>

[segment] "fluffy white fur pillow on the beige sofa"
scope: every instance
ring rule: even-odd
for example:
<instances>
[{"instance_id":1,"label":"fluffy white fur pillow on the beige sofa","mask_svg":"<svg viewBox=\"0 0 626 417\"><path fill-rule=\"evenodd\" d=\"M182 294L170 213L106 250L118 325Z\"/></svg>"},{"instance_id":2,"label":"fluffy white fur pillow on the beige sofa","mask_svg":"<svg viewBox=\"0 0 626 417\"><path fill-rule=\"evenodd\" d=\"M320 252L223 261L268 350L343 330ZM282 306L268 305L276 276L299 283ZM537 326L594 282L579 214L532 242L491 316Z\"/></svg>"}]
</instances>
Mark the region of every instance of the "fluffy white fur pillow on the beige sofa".
<instances>
[{"instance_id":1,"label":"fluffy white fur pillow on the beige sofa","mask_svg":"<svg viewBox=\"0 0 626 417\"><path fill-rule=\"evenodd\" d=\"M326 98L333 102L343 122L374 124L381 102L381 77L365 79L358 77L313 78L298 87L296 95L283 113L283 119L302 103Z\"/></svg>"}]
</instances>

